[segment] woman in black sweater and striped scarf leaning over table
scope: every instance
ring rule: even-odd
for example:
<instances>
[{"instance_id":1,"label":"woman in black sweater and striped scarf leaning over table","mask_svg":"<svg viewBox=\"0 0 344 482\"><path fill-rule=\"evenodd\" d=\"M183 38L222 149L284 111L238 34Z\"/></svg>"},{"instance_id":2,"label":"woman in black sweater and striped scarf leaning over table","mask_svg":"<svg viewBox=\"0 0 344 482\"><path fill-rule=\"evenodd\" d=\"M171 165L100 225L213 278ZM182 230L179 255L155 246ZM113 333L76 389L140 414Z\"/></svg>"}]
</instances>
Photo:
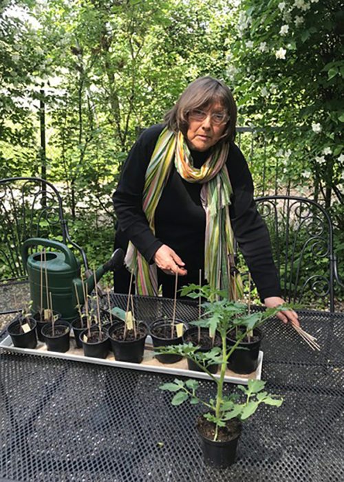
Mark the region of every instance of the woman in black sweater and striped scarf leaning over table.
<instances>
[{"instance_id":1,"label":"woman in black sweater and striped scarf leaning over table","mask_svg":"<svg viewBox=\"0 0 344 482\"><path fill-rule=\"evenodd\" d=\"M235 295L234 235L266 307L283 303L250 171L234 143L236 120L230 89L210 76L198 78L164 124L146 129L131 149L113 198L115 245L127 250L138 294L155 295L162 285L171 298L176 274L179 286L198 284L202 270L203 281ZM115 291L128 287L123 268ZM298 324L292 310L279 318Z\"/></svg>"}]
</instances>

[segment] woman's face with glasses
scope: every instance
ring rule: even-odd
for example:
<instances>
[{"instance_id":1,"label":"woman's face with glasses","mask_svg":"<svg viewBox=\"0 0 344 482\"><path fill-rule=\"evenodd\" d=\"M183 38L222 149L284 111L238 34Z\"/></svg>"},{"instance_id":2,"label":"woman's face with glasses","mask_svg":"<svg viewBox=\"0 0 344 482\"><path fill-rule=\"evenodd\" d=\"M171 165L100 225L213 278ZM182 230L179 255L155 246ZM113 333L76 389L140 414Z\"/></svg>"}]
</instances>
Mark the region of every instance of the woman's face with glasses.
<instances>
[{"instance_id":1,"label":"woman's face with glasses","mask_svg":"<svg viewBox=\"0 0 344 482\"><path fill-rule=\"evenodd\" d=\"M200 120L204 117L202 112L206 116L203 120ZM224 133L227 122L227 112L220 102L191 111L189 113L189 127L186 132L189 147L202 152L214 146Z\"/></svg>"}]
</instances>

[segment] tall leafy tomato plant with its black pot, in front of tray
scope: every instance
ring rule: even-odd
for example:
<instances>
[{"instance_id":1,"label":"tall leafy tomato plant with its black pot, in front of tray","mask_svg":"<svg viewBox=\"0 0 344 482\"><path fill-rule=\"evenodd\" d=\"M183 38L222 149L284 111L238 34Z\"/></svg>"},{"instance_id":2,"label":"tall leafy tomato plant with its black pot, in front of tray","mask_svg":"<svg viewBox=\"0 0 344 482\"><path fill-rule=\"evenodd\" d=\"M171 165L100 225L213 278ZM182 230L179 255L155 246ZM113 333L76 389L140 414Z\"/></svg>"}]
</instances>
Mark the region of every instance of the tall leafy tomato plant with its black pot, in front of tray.
<instances>
[{"instance_id":1,"label":"tall leafy tomato plant with its black pot, in front of tray","mask_svg":"<svg viewBox=\"0 0 344 482\"><path fill-rule=\"evenodd\" d=\"M265 382L261 380L249 380L247 388L239 386L245 399L241 401L237 394L224 395L224 377L230 356L239 346L241 340L255 328L262 325L268 318L273 316L279 309L267 309L258 313L246 314L246 305L226 299L225 293L212 290L208 286L200 287L190 285L184 289L184 294L191 294L195 298L206 296L208 301L203 303L203 319L194 322L195 325L207 327L212 331L218 331L221 337L221 347L214 347L208 353L200 353L193 344L175 345L174 347L161 347L160 353L178 353L193 360L205 373L208 373L216 386L216 395L204 400L198 397L196 380L175 379L172 383L160 386L162 390L174 393L171 403L178 406L189 399L191 404L200 404L205 409L197 417L197 431L202 440L202 451L206 464L217 468L224 468L235 460L237 441L241 433L241 421L253 415L260 404L280 406L281 397L275 397L265 391ZM245 327L241 331L235 343L228 347L228 330L240 325ZM217 362L220 365L219 376L213 375L205 363L205 358Z\"/></svg>"}]
</instances>

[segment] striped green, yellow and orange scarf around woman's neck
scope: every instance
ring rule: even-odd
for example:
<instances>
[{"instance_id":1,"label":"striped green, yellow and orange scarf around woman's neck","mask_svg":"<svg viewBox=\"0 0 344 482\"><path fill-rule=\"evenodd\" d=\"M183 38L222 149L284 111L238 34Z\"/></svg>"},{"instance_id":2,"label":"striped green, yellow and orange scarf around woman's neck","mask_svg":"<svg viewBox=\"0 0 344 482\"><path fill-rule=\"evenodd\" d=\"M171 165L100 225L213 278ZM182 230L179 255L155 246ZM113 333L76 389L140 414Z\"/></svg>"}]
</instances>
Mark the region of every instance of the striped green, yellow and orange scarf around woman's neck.
<instances>
[{"instance_id":1,"label":"striped green, yellow and orange scarf around woman's neck","mask_svg":"<svg viewBox=\"0 0 344 482\"><path fill-rule=\"evenodd\" d=\"M230 226L228 206L232 186L226 159L228 144L215 149L200 169L193 167L192 157L184 136L177 135L166 127L160 134L147 168L142 195L142 209L154 229L154 213L162 190L171 172L173 158L175 168L187 182L203 184L201 202L206 212L206 233L204 250L204 277L213 288L226 289L231 299L242 294L239 276L230 276L229 256L233 254L233 230ZM129 242L125 264L136 276L136 293L149 296L158 294L158 273L155 264L149 265ZM187 267L186 267L187 268Z\"/></svg>"}]
</instances>

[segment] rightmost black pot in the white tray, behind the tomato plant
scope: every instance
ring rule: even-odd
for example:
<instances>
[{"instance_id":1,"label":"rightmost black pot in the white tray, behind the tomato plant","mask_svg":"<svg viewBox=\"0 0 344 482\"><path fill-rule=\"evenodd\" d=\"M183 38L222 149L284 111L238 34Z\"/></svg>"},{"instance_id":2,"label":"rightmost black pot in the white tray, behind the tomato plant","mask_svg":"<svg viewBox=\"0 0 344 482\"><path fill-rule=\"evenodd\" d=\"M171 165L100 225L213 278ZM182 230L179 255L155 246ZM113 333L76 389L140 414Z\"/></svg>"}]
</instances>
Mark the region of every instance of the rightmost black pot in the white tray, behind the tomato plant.
<instances>
[{"instance_id":1,"label":"rightmost black pot in the white tray, behind the tomato plant","mask_svg":"<svg viewBox=\"0 0 344 482\"><path fill-rule=\"evenodd\" d=\"M238 328L240 329L241 327ZM244 329L244 327L242 329ZM257 370L259 348L263 338L263 332L261 329L255 328L253 330L253 336L258 339L252 342L240 342L238 348L235 349L229 357L228 368L235 373L248 375L248 373ZM235 340L230 337L227 337L226 340L229 351L235 344Z\"/></svg>"}]
</instances>

